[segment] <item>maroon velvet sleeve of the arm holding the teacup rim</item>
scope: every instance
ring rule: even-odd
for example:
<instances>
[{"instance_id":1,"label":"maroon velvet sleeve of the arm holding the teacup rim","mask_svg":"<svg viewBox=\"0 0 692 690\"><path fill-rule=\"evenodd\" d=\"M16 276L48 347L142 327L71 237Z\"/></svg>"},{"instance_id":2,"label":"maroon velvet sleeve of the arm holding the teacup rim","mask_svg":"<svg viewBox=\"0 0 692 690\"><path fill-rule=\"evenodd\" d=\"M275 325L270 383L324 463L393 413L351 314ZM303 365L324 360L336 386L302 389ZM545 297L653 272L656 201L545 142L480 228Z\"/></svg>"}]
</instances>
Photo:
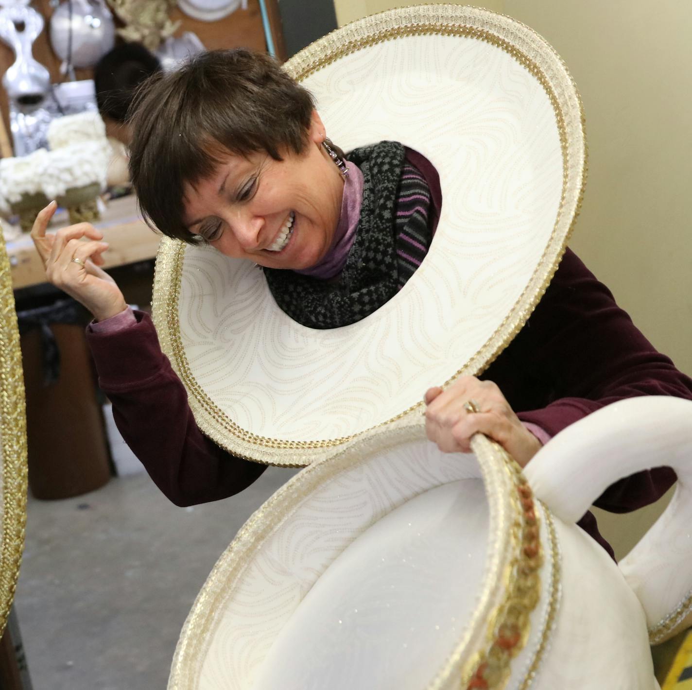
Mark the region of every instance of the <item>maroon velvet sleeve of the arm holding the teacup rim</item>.
<instances>
[{"instance_id":1,"label":"maroon velvet sleeve of the arm holding the teacup rim","mask_svg":"<svg viewBox=\"0 0 692 690\"><path fill-rule=\"evenodd\" d=\"M550 397L545 406L518 417L550 436L625 398L692 399L692 379L656 351L570 251L520 336L522 356L549 382ZM614 512L635 510L657 500L673 482L675 473L669 468L637 473L613 484L594 505Z\"/></svg>"}]
</instances>

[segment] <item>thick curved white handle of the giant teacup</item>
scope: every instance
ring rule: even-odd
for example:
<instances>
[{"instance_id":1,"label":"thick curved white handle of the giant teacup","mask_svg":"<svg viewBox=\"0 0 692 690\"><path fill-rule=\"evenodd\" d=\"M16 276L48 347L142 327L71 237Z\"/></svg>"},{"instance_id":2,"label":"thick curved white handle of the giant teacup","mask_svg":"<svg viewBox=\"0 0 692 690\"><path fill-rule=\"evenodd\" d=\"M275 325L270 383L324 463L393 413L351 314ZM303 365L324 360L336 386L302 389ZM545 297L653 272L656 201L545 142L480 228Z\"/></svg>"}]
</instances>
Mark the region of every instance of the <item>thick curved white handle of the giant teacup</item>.
<instances>
[{"instance_id":1,"label":"thick curved white handle of the giant teacup","mask_svg":"<svg viewBox=\"0 0 692 690\"><path fill-rule=\"evenodd\" d=\"M662 465L677 473L675 496L620 564L644 606L652 642L692 618L692 401L614 403L559 433L524 471L556 516L576 522L613 482Z\"/></svg>"}]
</instances>

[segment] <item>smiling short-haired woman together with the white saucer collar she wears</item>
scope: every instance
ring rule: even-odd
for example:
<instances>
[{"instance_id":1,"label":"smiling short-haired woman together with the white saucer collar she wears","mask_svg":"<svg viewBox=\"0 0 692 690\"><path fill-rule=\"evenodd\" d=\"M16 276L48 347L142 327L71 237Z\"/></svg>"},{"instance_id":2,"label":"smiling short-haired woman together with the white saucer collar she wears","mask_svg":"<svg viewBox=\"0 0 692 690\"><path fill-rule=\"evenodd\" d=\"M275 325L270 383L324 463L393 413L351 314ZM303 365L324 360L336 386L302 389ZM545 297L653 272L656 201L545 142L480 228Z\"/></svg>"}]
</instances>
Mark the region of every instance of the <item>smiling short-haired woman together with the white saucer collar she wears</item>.
<instances>
[{"instance_id":1,"label":"smiling short-haired woman together with the white saucer collar she wears","mask_svg":"<svg viewBox=\"0 0 692 690\"><path fill-rule=\"evenodd\" d=\"M565 253L585 140L563 63L525 27L513 52L495 33L464 33L479 15L514 36L507 18L426 16L438 11L459 13L458 34L401 36L392 54L377 39L346 57L325 39L322 62L308 50L284 71L210 52L145 84L130 166L167 235L154 300L167 356L98 267L99 233L46 236L53 207L39 216L48 277L95 316L116 423L176 504L231 496L266 464L330 457L419 415L426 389L441 450L484 433L522 465L608 403L692 398L692 381ZM639 473L600 503L635 509L674 479ZM580 524L608 548L590 514Z\"/></svg>"}]
</instances>

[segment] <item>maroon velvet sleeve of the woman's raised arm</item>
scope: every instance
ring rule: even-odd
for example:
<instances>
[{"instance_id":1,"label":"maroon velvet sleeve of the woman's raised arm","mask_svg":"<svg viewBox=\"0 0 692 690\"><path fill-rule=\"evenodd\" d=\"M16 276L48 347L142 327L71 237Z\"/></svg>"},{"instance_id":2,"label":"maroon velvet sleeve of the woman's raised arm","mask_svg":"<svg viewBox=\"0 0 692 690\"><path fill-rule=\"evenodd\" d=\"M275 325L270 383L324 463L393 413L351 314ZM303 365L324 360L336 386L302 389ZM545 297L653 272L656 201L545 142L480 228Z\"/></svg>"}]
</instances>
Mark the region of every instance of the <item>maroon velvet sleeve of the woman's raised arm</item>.
<instances>
[{"instance_id":1,"label":"maroon velvet sleeve of the woman's raised arm","mask_svg":"<svg viewBox=\"0 0 692 690\"><path fill-rule=\"evenodd\" d=\"M116 332L86 329L100 388L113 403L123 439L176 505L242 491L266 466L231 455L201 433L152 320L141 311L135 316L136 323Z\"/></svg>"}]
</instances>

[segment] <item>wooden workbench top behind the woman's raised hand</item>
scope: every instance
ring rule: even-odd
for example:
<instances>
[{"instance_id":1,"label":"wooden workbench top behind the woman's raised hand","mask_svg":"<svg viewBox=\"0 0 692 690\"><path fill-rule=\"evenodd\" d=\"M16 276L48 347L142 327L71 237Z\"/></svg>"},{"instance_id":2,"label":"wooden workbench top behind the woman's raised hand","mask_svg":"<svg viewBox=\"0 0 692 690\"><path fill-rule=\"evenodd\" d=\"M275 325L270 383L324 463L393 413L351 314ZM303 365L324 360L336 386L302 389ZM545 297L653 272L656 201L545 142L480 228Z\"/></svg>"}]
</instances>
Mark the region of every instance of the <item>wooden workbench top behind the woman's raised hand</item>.
<instances>
[{"instance_id":1,"label":"wooden workbench top behind the woman's raised hand","mask_svg":"<svg viewBox=\"0 0 692 690\"><path fill-rule=\"evenodd\" d=\"M50 230L58 230L69 224L66 212L55 215ZM150 230L140 217L134 195L110 201L102 218L94 223L102 230L104 241L110 247L103 257L104 269L125 266L138 261L153 259L158 251L161 236ZM27 233L7 243L12 271L12 287L15 290L46 282L46 272L33 242Z\"/></svg>"}]
</instances>

